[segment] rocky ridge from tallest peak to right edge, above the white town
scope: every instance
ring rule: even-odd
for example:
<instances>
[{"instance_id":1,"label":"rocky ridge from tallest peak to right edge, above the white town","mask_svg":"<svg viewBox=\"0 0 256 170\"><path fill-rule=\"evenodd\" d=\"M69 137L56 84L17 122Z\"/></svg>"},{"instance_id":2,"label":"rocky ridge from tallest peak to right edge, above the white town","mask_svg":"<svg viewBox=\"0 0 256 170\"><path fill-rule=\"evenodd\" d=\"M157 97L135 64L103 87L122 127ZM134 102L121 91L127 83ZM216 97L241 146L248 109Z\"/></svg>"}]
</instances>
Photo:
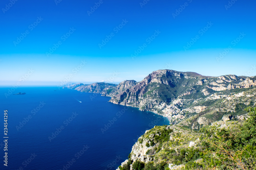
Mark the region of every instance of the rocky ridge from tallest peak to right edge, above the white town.
<instances>
[{"instance_id":1,"label":"rocky ridge from tallest peak to right edge, above the white town","mask_svg":"<svg viewBox=\"0 0 256 170\"><path fill-rule=\"evenodd\" d=\"M191 98L198 99L201 95L214 94L214 91L248 88L255 86L255 83L253 77L207 77L194 72L157 70L136 85L114 95L110 102L156 111L155 106L163 102L169 103L178 97L190 95L194 96Z\"/></svg>"}]
</instances>

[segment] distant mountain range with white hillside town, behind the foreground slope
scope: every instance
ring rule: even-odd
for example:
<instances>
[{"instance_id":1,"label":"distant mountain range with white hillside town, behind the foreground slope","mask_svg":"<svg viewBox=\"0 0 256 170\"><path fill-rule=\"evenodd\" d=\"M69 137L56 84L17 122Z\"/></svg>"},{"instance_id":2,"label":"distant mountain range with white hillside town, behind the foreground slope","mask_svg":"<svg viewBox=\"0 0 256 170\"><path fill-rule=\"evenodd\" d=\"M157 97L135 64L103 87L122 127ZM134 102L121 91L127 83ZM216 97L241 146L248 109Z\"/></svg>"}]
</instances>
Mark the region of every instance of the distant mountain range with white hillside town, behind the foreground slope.
<instances>
[{"instance_id":1,"label":"distant mountain range with white hillside town, behind the foreground slope","mask_svg":"<svg viewBox=\"0 0 256 170\"><path fill-rule=\"evenodd\" d=\"M117 84L70 84L65 88L110 96L110 102L138 107L168 117L170 123L199 126L220 120L224 114L244 114L256 103L256 76L202 76L194 72L157 70L142 81Z\"/></svg>"}]
</instances>

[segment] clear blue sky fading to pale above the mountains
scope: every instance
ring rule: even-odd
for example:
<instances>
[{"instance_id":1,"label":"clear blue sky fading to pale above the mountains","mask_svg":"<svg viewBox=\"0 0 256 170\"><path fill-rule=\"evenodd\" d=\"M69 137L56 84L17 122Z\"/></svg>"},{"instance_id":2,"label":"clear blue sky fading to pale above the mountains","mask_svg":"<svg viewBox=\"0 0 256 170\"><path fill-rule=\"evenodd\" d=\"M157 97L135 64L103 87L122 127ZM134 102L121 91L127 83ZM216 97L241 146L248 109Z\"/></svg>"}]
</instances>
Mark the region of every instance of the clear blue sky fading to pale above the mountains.
<instances>
[{"instance_id":1,"label":"clear blue sky fading to pale above the mountains","mask_svg":"<svg viewBox=\"0 0 256 170\"><path fill-rule=\"evenodd\" d=\"M2 0L0 85L141 81L159 69L254 76L255 6L251 0Z\"/></svg>"}]
</instances>

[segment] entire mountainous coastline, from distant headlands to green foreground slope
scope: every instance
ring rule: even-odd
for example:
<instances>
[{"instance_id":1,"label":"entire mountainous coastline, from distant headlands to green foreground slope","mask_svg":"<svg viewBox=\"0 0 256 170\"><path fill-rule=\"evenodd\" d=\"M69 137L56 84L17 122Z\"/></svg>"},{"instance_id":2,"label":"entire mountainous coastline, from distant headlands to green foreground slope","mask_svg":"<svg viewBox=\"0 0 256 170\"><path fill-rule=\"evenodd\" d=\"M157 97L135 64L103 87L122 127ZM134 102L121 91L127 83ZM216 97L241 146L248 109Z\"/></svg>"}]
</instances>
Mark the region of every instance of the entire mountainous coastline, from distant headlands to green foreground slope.
<instances>
[{"instance_id":1,"label":"entire mountainous coastline, from distant headlands to green foreground slope","mask_svg":"<svg viewBox=\"0 0 256 170\"><path fill-rule=\"evenodd\" d=\"M157 70L140 82L65 87L110 96L112 103L152 111L170 120L171 125L155 126L138 138L118 170L255 170L256 111L248 115L246 110L256 104L255 86L256 76L211 77ZM253 120L248 124L247 119Z\"/></svg>"}]
</instances>

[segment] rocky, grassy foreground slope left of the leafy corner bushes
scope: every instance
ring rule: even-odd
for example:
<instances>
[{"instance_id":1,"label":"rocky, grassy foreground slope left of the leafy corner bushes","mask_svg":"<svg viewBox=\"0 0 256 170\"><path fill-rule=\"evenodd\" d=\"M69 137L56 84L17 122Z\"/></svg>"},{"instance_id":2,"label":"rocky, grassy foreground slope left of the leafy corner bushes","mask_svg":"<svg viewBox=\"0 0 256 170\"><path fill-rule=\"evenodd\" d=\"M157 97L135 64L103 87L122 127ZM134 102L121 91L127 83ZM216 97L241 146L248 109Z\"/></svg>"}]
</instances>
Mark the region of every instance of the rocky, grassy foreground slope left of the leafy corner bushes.
<instances>
[{"instance_id":1,"label":"rocky, grassy foreground slope left of the leafy corner bushes","mask_svg":"<svg viewBox=\"0 0 256 170\"><path fill-rule=\"evenodd\" d=\"M214 122L205 129L216 129L215 131L217 132L226 131L239 134L237 131L240 131L241 126L246 123L245 120L248 119L248 114L240 118L235 120L234 117L224 115L221 121ZM137 167L143 170L180 168L191 170L202 169L202 167L209 170L217 169L216 167L222 166L222 162L218 161L219 159L214 155L215 150L212 149L211 151L208 147L209 144L207 142L211 139L207 137L209 134L205 129L202 132L196 132L177 125L164 125L146 130L145 134L139 137L138 141L133 145L128 159L121 163L117 170L136 170ZM205 132L207 134L203 134ZM230 136L226 139L230 138L232 137ZM226 139L223 140L225 141ZM235 149L239 151L239 147ZM253 154L251 149L248 149L251 153L248 152L245 155L247 158L251 157L249 154ZM253 149L256 150L256 147ZM229 161L224 160L224 163L229 166L231 161L232 158ZM255 165L249 161L243 162L243 165L247 164Z\"/></svg>"}]
</instances>

